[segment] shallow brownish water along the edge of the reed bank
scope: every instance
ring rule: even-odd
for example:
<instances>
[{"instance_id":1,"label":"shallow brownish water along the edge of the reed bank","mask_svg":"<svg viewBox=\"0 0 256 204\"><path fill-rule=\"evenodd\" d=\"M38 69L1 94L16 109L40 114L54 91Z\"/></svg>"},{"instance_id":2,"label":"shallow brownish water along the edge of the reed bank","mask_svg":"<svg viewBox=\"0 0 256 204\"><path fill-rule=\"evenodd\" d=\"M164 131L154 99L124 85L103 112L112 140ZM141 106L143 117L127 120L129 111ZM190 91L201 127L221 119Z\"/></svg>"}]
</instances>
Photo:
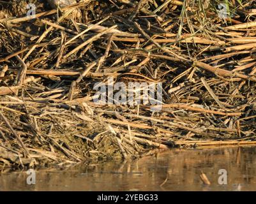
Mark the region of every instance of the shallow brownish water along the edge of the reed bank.
<instances>
[{"instance_id":1,"label":"shallow brownish water along the edge of the reed bank","mask_svg":"<svg viewBox=\"0 0 256 204\"><path fill-rule=\"evenodd\" d=\"M227 184L219 184L220 169ZM211 185L200 180L203 171ZM256 191L256 147L172 149L135 161L0 175L0 191Z\"/></svg>"}]
</instances>

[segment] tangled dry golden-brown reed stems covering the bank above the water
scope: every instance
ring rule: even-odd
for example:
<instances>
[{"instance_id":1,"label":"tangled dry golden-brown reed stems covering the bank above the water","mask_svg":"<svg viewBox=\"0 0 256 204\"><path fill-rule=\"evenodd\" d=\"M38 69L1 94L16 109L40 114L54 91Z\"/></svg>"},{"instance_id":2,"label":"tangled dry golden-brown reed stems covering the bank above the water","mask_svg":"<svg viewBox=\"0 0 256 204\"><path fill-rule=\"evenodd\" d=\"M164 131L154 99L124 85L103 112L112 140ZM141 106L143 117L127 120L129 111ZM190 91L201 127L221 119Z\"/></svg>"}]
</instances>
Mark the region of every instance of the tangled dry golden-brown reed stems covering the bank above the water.
<instances>
[{"instance_id":1,"label":"tangled dry golden-brown reed stems covering the bank above the water","mask_svg":"<svg viewBox=\"0 0 256 204\"><path fill-rule=\"evenodd\" d=\"M0 166L253 143L256 3L218 3L0 1ZM162 109L93 103L108 77L162 82Z\"/></svg>"}]
</instances>

